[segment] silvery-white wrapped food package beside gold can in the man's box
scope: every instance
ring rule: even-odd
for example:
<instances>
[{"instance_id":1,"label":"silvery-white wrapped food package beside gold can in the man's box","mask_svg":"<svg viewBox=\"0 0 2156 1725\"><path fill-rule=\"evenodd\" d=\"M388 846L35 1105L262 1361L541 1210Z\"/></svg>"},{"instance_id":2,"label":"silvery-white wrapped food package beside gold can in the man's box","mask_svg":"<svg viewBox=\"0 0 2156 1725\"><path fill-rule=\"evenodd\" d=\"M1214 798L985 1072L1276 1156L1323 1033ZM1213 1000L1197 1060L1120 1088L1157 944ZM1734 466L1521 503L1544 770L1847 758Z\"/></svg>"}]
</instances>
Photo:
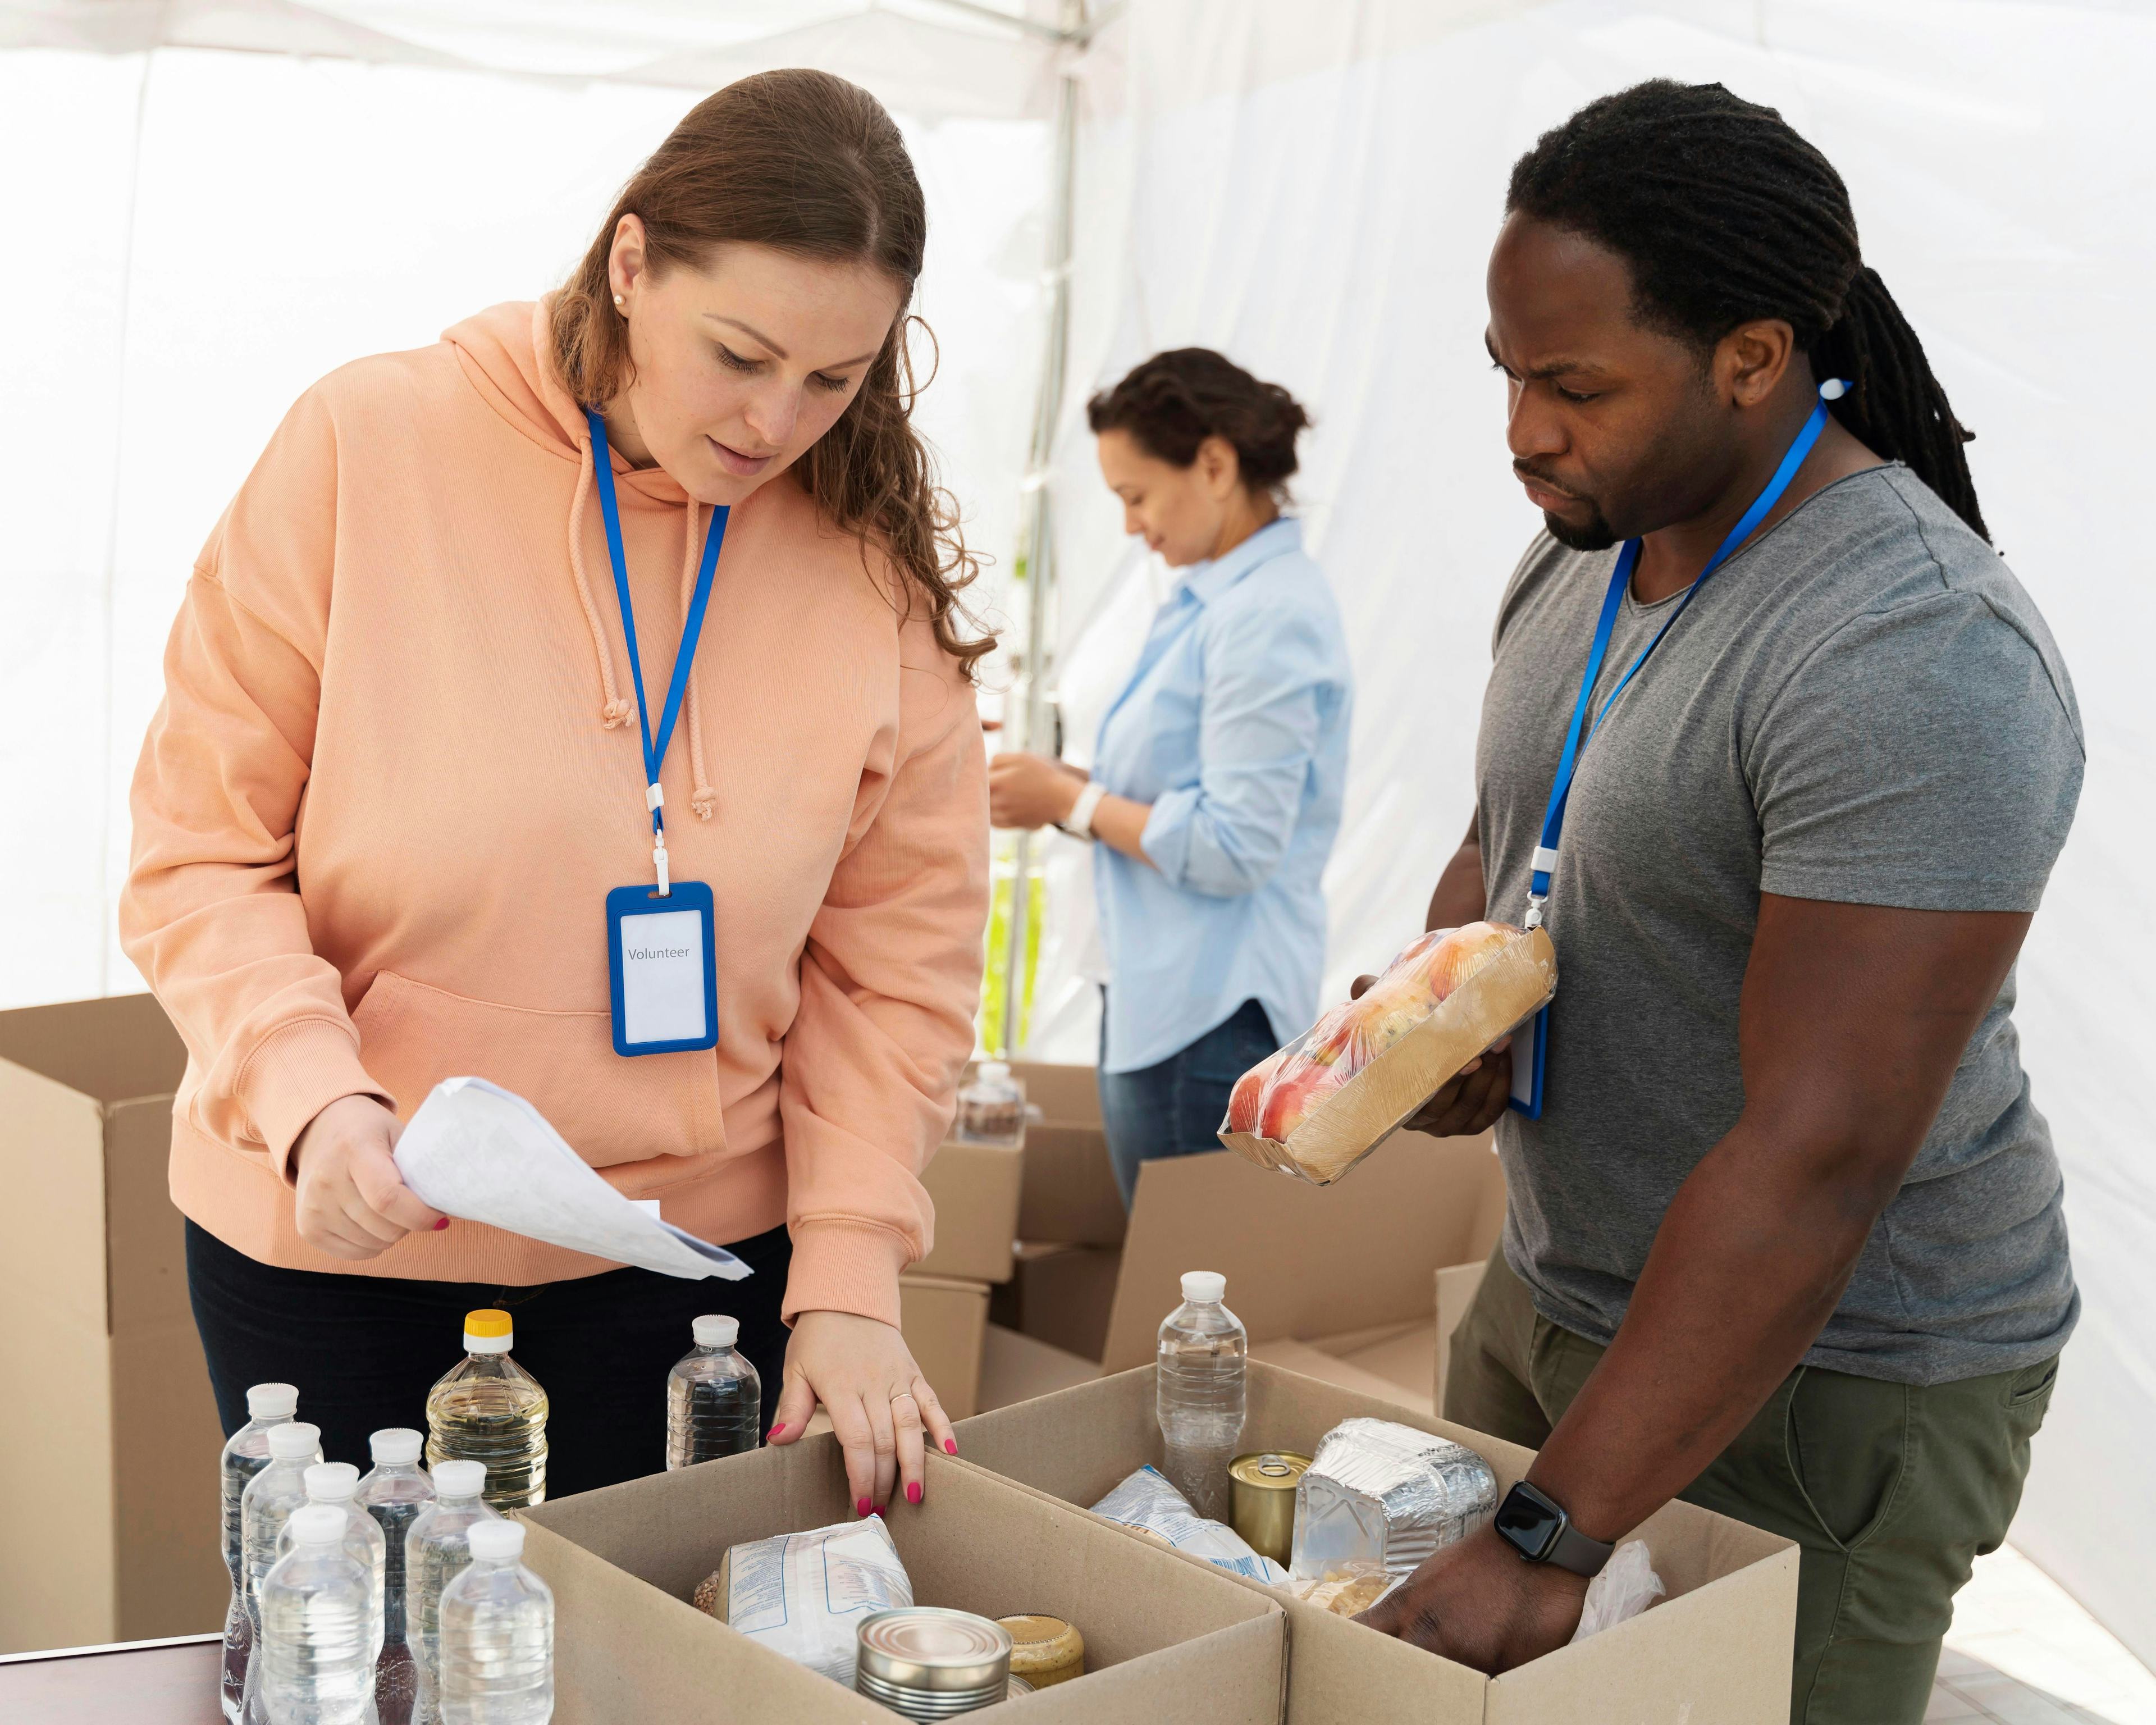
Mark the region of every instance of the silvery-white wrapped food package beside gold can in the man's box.
<instances>
[{"instance_id":1,"label":"silvery-white wrapped food package beside gold can in the man's box","mask_svg":"<svg viewBox=\"0 0 2156 1725\"><path fill-rule=\"evenodd\" d=\"M1395 1578L1496 1514L1496 1475L1464 1445L1388 1419L1345 1419L1326 1432L1296 1486L1298 1581L1356 1559Z\"/></svg>"}]
</instances>

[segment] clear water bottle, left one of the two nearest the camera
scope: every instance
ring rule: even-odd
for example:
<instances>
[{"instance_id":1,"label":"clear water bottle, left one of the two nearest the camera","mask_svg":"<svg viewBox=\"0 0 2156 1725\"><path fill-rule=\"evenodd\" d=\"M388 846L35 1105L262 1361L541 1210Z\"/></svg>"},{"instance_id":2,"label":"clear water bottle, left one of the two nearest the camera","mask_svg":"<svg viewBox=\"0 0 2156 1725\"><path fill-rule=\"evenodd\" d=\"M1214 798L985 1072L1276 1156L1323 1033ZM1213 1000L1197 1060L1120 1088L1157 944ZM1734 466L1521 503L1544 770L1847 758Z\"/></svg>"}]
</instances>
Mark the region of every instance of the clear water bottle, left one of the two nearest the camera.
<instances>
[{"instance_id":1,"label":"clear water bottle, left one of the two nearest the camera","mask_svg":"<svg viewBox=\"0 0 2156 1725\"><path fill-rule=\"evenodd\" d=\"M291 1514L291 1550L261 1581L261 1693L270 1725L364 1725L375 1699L367 1568L338 1503Z\"/></svg>"}]
</instances>

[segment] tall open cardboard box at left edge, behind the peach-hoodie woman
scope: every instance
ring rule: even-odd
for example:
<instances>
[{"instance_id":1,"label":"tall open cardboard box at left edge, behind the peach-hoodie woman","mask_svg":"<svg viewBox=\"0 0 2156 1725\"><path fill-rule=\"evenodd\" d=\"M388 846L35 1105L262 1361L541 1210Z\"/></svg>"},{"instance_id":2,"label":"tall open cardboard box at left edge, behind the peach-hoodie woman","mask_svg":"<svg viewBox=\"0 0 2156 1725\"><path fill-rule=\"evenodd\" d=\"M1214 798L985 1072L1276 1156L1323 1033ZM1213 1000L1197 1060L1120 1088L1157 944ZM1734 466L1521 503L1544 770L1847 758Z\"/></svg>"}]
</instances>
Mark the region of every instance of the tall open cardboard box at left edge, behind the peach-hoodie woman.
<instances>
[{"instance_id":1,"label":"tall open cardboard box at left edge, behind the peach-hoodie woman","mask_svg":"<svg viewBox=\"0 0 2156 1725\"><path fill-rule=\"evenodd\" d=\"M0 1652L216 1630L218 1427L149 994L0 1013Z\"/></svg>"}]
</instances>

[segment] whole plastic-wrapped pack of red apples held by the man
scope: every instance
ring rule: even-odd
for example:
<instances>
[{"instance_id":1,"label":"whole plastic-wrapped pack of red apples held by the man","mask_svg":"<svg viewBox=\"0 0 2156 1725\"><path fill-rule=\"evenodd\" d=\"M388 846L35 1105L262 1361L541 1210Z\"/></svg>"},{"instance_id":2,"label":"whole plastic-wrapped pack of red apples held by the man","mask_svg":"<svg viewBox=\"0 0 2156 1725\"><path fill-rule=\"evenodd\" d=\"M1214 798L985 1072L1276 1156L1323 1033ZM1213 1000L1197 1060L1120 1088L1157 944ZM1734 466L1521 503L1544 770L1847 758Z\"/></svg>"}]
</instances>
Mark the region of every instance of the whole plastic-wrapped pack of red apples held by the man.
<instances>
[{"instance_id":1,"label":"whole plastic-wrapped pack of red apples held by the man","mask_svg":"<svg viewBox=\"0 0 2156 1725\"><path fill-rule=\"evenodd\" d=\"M1360 1000L1330 1007L1238 1078L1220 1141L1319 1186L1339 1179L1554 990L1542 929L1432 929Z\"/></svg>"}]
</instances>

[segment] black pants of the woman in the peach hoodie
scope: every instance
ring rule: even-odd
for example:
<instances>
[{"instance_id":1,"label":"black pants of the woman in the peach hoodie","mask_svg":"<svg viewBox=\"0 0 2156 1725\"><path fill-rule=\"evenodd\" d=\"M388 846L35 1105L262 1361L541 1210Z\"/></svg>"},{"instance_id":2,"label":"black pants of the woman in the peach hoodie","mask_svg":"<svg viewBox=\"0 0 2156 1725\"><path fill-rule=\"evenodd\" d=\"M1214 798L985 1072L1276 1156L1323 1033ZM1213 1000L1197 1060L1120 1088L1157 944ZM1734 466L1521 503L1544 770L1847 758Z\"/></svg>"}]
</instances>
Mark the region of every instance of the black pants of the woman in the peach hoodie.
<instances>
[{"instance_id":1,"label":"black pants of the woman in the peach hoodie","mask_svg":"<svg viewBox=\"0 0 2156 1725\"><path fill-rule=\"evenodd\" d=\"M535 1287L330 1276L278 1270L188 1223L188 1294L209 1354L224 1432L248 1421L248 1384L298 1384L300 1419L321 1453L367 1471L384 1425L427 1430L427 1391L464 1358L464 1313L502 1307L513 1356L548 1393L548 1496L569 1496L666 1466L666 1369L690 1320L742 1322L740 1350L763 1378L763 1423L778 1406L787 1330L778 1322L793 1246L783 1227L733 1244L744 1281L683 1281L608 1270Z\"/></svg>"}]
</instances>

